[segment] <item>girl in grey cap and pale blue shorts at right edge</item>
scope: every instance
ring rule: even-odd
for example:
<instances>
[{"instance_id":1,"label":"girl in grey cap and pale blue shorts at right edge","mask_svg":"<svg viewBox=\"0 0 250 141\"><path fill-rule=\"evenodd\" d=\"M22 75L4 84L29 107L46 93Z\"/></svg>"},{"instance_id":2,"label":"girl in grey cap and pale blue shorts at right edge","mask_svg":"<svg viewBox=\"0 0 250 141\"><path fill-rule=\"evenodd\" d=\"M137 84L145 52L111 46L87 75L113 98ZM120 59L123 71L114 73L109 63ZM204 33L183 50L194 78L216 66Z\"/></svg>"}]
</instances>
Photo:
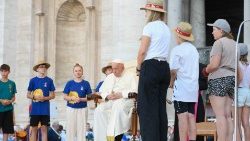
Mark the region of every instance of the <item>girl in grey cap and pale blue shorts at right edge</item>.
<instances>
[{"instance_id":1,"label":"girl in grey cap and pale blue shorts at right edge","mask_svg":"<svg viewBox=\"0 0 250 141\"><path fill-rule=\"evenodd\" d=\"M239 44L240 58L239 58L239 72L242 75L242 80L238 85L238 103L237 103L237 126L236 126L236 140L241 141L243 137L245 141L250 141L250 65L247 60L248 47L246 44ZM244 130L242 130L242 128ZM244 133L244 134L243 134ZM243 136L244 135L244 136Z\"/></svg>"}]
</instances>

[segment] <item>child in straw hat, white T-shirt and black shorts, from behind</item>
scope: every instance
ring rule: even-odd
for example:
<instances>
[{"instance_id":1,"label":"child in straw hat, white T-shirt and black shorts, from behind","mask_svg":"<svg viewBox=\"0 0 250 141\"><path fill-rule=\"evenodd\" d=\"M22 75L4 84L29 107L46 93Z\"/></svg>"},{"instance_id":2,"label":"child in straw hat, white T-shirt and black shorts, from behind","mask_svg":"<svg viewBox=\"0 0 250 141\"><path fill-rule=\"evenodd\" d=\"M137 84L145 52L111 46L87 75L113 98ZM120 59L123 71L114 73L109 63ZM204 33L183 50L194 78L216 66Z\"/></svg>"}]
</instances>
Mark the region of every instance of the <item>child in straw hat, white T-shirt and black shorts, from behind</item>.
<instances>
[{"instance_id":1,"label":"child in straw hat, white T-shirt and black shorts, from behind","mask_svg":"<svg viewBox=\"0 0 250 141\"><path fill-rule=\"evenodd\" d=\"M177 46L171 51L170 88L173 88L173 101L179 121L180 141L196 140L194 105L198 100L199 54L195 46L192 26L180 22L174 29Z\"/></svg>"}]
</instances>

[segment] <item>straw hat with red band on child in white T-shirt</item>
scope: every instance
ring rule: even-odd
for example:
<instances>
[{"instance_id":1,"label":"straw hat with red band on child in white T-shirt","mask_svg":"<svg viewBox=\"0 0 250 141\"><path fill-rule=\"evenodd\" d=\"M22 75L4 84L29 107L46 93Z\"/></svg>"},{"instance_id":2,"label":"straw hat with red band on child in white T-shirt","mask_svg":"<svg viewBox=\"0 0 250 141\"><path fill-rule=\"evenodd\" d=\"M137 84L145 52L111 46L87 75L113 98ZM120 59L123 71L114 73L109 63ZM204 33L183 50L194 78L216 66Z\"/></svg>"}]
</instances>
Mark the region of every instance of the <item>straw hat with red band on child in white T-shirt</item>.
<instances>
[{"instance_id":1,"label":"straw hat with red band on child in white T-shirt","mask_svg":"<svg viewBox=\"0 0 250 141\"><path fill-rule=\"evenodd\" d=\"M194 36L192 34L192 26L187 22L180 22L179 25L174 29L174 33L187 41L194 41Z\"/></svg>"}]
</instances>

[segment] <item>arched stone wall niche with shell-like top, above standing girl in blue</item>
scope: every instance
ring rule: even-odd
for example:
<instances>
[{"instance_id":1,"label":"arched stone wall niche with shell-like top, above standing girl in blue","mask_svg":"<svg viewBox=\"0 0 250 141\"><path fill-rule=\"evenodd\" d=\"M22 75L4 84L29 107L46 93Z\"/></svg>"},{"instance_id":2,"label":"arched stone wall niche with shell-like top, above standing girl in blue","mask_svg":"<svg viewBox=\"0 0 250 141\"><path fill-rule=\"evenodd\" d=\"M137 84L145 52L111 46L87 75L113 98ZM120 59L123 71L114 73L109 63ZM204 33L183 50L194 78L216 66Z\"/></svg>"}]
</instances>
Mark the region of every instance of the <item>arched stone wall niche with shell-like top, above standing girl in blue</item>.
<instances>
[{"instance_id":1,"label":"arched stone wall niche with shell-like top, above standing girl in blue","mask_svg":"<svg viewBox=\"0 0 250 141\"><path fill-rule=\"evenodd\" d=\"M83 64L86 52L86 13L77 0L68 0L56 18L55 82L62 88L72 78L75 63Z\"/></svg>"}]
</instances>

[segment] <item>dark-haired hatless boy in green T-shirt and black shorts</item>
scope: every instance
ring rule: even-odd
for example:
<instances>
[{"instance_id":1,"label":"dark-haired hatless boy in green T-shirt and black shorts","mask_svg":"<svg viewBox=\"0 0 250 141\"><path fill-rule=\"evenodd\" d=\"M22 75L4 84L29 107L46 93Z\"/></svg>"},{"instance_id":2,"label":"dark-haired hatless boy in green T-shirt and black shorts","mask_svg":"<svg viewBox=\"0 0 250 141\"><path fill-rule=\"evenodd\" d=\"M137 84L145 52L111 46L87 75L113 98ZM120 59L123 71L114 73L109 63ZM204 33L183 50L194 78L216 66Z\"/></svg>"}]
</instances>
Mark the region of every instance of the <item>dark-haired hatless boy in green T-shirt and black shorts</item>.
<instances>
[{"instance_id":1,"label":"dark-haired hatless boy in green T-shirt and black shorts","mask_svg":"<svg viewBox=\"0 0 250 141\"><path fill-rule=\"evenodd\" d=\"M2 64L0 67L0 129L3 131L3 141L8 140L8 135L14 133L13 105L16 94L16 84L9 80L10 66Z\"/></svg>"}]
</instances>

